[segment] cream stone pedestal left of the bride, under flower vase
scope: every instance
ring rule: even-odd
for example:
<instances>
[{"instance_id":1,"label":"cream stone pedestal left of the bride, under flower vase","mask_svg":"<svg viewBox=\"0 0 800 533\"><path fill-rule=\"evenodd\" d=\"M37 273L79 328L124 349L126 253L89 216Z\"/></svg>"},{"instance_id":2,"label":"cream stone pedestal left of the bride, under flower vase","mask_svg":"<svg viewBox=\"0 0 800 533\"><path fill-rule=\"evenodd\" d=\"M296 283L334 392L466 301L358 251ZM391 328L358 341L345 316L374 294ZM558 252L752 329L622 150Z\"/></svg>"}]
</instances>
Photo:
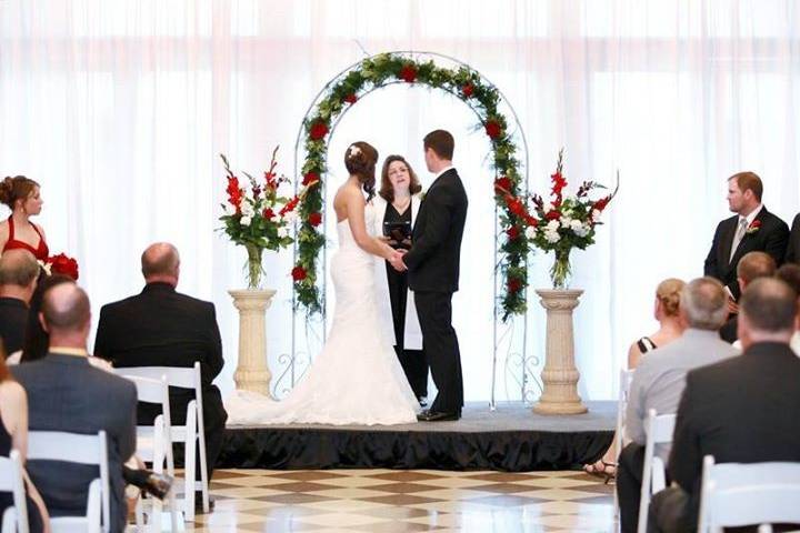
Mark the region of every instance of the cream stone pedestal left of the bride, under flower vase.
<instances>
[{"instance_id":1,"label":"cream stone pedestal left of the bride, under flower vase","mask_svg":"<svg viewBox=\"0 0 800 533\"><path fill-rule=\"evenodd\" d=\"M248 289L228 293L239 310L239 364L233 374L237 389L271 396L264 315L276 291Z\"/></svg>"}]
</instances>

